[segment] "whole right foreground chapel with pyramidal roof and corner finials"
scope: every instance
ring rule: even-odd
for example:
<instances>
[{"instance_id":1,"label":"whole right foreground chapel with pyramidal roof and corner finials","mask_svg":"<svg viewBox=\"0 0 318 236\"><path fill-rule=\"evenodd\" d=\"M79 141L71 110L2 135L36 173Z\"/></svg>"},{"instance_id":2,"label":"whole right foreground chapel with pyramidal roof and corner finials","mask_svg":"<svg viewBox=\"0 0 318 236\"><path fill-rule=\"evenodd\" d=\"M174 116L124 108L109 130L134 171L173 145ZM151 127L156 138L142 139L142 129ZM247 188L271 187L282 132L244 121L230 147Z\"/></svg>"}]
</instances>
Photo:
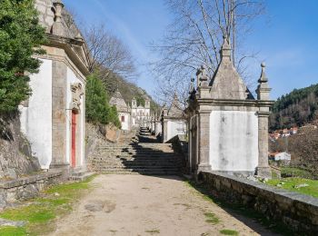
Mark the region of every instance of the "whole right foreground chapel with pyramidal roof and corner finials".
<instances>
[{"instance_id":1,"label":"whole right foreground chapel with pyramidal roof and corner finials","mask_svg":"<svg viewBox=\"0 0 318 236\"><path fill-rule=\"evenodd\" d=\"M191 172L270 177L268 116L273 102L264 64L254 99L234 68L227 39L220 54L221 63L211 79L204 68L198 70L197 91L187 108Z\"/></svg>"}]
</instances>

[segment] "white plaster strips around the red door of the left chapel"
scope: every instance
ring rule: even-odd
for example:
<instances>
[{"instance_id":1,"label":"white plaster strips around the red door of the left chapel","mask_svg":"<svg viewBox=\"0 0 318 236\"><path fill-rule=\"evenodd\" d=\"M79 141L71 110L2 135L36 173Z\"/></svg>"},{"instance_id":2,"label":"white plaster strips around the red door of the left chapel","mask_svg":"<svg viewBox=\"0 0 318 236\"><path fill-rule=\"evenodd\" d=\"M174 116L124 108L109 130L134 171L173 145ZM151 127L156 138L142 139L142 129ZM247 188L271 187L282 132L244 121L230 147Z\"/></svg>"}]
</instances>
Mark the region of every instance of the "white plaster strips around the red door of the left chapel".
<instances>
[{"instance_id":1,"label":"white plaster strips around the red door of the left chapel","mask_svg":"<svg viewBox=\"0 0 318 236\"><path fill-rule=\"evenodd\" d=\"M66 161L70 163L71 160L71 139L72 139L72 133L71 133L71 125L72 125L72 111L71 109L71 102L72 102L72 91L71 91L71 84L74 83L81 83L83 90L85 90L84 84L80 81L79 78L75 75L75 73L67 67L67 85L66 85ZM81 99L81 124L80 127L82 129L81 131L81 165L84 164L84 127L85 127L85 113L84 113L84 96L82 96Z\"/></svg>"}]
</instances>

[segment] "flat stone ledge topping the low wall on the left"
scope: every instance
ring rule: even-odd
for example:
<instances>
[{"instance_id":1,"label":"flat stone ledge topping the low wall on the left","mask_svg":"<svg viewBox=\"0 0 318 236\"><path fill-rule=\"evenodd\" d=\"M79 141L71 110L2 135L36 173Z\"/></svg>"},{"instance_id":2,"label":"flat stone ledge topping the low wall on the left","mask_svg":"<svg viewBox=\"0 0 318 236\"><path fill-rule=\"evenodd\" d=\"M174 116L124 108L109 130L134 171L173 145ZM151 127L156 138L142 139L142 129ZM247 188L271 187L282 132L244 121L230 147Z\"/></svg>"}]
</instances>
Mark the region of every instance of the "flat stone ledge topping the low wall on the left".
<instances>
[{"instance_id":1,"label":"flat stone ledge topping the low wall on the left","mask_svg":"<svg viewBox=\"0 0 318 236\"><path fill-rule=\"evenodd\" d=\"M50 172L43 172L27 177L22 177L18 178L13 181L5 181L5 182L0 182L0 189L11 189L15 188L18 186L23 186L26 184L42 181L42 180L47 180L50 178L55 178L57 176L61 176L62 172L61 171L50 171Z\"/></svg>"}]
</instances>

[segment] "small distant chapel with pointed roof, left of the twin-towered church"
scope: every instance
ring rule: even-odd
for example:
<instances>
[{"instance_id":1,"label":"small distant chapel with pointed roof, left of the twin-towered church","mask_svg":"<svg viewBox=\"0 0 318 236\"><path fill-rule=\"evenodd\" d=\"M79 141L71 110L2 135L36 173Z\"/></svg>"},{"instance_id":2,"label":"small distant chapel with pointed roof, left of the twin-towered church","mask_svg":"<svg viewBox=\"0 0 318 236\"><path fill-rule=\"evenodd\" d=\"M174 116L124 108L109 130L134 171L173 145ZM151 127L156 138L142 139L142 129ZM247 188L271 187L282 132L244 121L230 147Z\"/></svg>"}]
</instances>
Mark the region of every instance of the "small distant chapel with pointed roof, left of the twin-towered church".
<instances>
[{"instance_id":1,"label":"small distant chapel with pointed roof, left of the twin-towered church","mask_svg":"<svg viewBox=\"0 0 318 236\"><path fill-rule=\"evenodd\" d=\"M111 100L109 101L111 105L114 105L117 109L119 121L122 124L122 130L129 131L131 129L131 109L129 105L124 102L122 93L117 89Z\"/></svg>"}]
</instances>

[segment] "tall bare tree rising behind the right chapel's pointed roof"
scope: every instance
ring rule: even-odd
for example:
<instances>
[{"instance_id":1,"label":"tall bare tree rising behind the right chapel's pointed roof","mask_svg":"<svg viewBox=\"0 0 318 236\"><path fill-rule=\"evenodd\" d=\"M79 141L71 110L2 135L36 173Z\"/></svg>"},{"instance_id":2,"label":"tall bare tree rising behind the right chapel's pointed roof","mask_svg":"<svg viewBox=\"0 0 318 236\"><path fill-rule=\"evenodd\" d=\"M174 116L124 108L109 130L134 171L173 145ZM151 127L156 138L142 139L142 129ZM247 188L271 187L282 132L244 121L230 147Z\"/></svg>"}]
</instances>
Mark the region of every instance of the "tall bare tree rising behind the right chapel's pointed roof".
<instances>
[{"instance_id":1,"label":"tall bare tree rising behind the right chapel's pointed roof","mask_svg":"<svg viewBox=\"0 0 318 236\"><path fill-rule=\"evenodd\" d=\"M230 40L232 60L243 78L247 78L244 37L251 30L253 18L263 13L262 0L166 0L174 15L164 40L153 45L160 60L152 65L158 94L164 101L178 93L185 101L190 77L204 65L212 76L220 62L223 37ZM168 84L168 86L166 86ZM167 94L170 93L168 96ZM184 97L185 96L185 97ZM164 101L165 102L165 101Z\"/></svg>"}]
</instances>

